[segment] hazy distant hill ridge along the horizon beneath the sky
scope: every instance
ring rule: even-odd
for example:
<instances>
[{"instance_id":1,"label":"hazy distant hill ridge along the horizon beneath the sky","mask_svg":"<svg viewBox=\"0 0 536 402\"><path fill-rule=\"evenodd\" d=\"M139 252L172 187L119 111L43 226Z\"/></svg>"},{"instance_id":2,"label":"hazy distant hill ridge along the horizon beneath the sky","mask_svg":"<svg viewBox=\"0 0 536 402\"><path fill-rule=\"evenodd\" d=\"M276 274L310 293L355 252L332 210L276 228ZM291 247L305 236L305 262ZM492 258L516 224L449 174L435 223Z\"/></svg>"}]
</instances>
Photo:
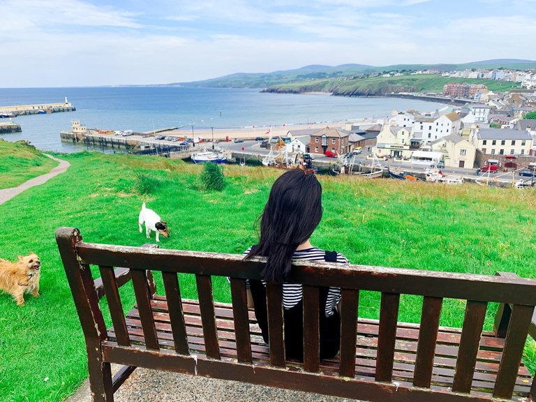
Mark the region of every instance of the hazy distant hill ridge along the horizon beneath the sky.
<instances>
[{"instance_id":1,"label":"hazy distant hill ridge along the horizon beneath the sky","mask_svg":"<svg viewBox=\"0 0 536 402\"><path fill-rule=\"evenodd\" d=\"M171 87L216 87L216 88L269 88L285 84L312 84L316 80L329 80L364 74L382 73L398 70L438 70L440 73L466 68L513 68L523 70L536 68L536 61L522 59L493 59L472 61L466 64L394 64L392 66L368 66L366 64L341 64L324 66L313 64L294 70L278 70L271 73L234 73L223 77L193 82L174 82L166 84Z\"/></svg>"}]
</instances>

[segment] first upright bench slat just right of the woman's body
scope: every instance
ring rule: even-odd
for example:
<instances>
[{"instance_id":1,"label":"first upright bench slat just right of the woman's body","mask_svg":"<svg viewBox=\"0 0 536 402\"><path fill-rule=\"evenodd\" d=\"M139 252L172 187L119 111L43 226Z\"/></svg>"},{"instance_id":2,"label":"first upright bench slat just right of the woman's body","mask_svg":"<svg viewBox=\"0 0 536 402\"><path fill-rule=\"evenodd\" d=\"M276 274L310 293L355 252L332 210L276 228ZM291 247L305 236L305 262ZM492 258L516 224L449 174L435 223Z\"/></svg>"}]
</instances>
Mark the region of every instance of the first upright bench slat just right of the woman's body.
<instances>
[{"instance_id":1,"label":"first upright bench slat just right of the woman's body","mask_svg":"<svg viewBox=\"0 0 536 402\"><path fill-rule=\"evenodd\" d=\"M341 366L339 374L346 377L355 375L358 305L359 290L343 289L341 299Z\"/></svg>"}]
</instances>

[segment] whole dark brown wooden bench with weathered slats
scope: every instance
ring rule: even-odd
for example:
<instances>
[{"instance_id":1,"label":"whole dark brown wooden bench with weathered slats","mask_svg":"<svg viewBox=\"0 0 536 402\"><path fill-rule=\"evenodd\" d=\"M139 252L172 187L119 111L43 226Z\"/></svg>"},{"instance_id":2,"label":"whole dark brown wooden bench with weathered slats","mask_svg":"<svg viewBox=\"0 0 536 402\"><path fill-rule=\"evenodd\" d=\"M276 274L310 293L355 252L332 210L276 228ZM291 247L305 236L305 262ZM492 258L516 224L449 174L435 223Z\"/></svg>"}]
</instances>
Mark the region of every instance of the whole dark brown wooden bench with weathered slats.
<instances>
[{"instance_id":1,"label":"whole dark brown wooden bench with weathered slats","mask_svg":"<svg viewBox=\"0 0 536 402\"><path fill-rule=\"evenodd\" d=\"M534 401L521 356L536 336L536 280L411 269L299 262L304 284L304 362L285 359L281 284L267 284L269 347L246 306L246 278L263 260L241 255L89 244L59 228L57 244L87 345L94 401L113 394L140 366L330 394L364 401ZM98 266L94 281L90 266ZM122 267L117 268L116 267ZM161 272L165 297L151 271ZM199 300L181 299L178 273L193 274ZM229 276L232 304L214 302L211 276ZM119 286L131 281L136 306L125 314ZM342 288L341 351L319 360L318 286ZM358 319L359 292L381 294L380 320ZM105 294L113 327L99 297ZM423 297L420 325L398 321L401 295ZM442 301L466 305L463 327L440 327ZM496 331L482 331L498 302ZM110 364L125 365L113 378Z\"/></svg>"}]
</instances>

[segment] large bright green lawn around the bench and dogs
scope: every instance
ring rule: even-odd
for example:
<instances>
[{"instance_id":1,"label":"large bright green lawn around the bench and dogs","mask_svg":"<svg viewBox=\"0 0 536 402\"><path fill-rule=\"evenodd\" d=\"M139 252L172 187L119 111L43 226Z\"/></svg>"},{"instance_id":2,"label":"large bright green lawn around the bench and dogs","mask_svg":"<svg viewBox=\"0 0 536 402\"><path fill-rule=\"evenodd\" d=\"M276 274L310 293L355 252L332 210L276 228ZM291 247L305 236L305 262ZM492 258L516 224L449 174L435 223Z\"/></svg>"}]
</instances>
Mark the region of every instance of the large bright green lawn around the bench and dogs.
<instances>
[{"instance_id":1,"label":"large bright green lawn around the bench and dogs","mask_svg":"<svg viewBox=\"0 0 536 402\"><path fill-rule=\"evenodd\" d=\"M0 295L0 400L61 401L87 377L84 340L54 240L56 228L80 228L86 241L140 246L147 239L138 231L137 214L146 202L170 227L171 237L161 237L162 248L242 253L257 238L255 219L281 174L225 166L223 191L204 192L198 165L118 154L61 158L71 163L66 173L0 205L0 227L6 229L0 232L0 257L14 260L31 250L42 260L38 299L27 297L27 305L18 308L8 295ZM147 177L158 183L150 191ZM320 180L325 214L313 234L315 246L364 265L536 276L533 190ZM183 275L180 281L182 295L195 297L193 278ZM131 289L121 292L132 302ZM230 301L225 279L215 278L214 293L218 301ZM379 295L363 293L359 314L378 317ZM399 320L418 322L420 302L403 297ZM445 300L441 324L461 325L463 309L460 301ZM489 308L487 329L494 309ZM527 353L533 350L528 346Z\"/></svg>"}]
</instances>

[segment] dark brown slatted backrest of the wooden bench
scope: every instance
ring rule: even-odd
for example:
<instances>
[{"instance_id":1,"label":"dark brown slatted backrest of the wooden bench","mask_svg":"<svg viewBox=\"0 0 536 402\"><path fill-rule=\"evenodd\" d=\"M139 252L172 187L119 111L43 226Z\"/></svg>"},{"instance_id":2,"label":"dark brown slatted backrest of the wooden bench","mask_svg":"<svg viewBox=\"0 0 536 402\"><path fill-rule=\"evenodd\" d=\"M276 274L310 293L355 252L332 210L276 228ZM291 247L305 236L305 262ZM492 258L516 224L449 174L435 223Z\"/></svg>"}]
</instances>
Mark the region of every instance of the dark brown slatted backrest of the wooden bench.
<instances>
[{"instance_id":1,"label":"dark brown slatted backrest of the wooden bench","mask_svg":"<svg viewBox=\"0 0 536 402\"><path fill-rule=\"evenodd\" d=\"M117 343L124 346L131 345L117 279L114 275L114 267L126 267L130 269L147 348L159 350L151 311L151 292L147 286L149 269L162 273L168 306L174 306L169 309L174 348L177 353L188 355L177 274L194 274L207 357L220 359L211 276L228 276L237 359L239 362L252 363L245 279L262 278L261 272L265 262L262 258L244 261L242 255L89 244L84 243L80 232L72 228L59 228L56 236L87 339L104 340L107 336L103 315L98 307L95 283L89 270L89 265L98 265L117 334ZM466 313L453 385L453 391L456 392L470 392L487 304L489 302L509 304L512 306L511 320L493 395L502 398L512 396L523 345L536 305L536 280L329 262L298 262L292 268L289 282L303 284L304 350L307 351L303 368L308 372L317 372L320 367L319 287L336 286L342 289L341 352L338 371L339 375L348 377L355 375L359 292L361 290L381 292L378 354L375 366L375 380L380 382L392 381L400 296L401 294L423 296L413 378L413 385L417 387L431 387L442 300L444 298L465 300ZM277 367L285 367L282 305L282 285L267 283L270 363Z\"/></svg>"}]
</instances>

